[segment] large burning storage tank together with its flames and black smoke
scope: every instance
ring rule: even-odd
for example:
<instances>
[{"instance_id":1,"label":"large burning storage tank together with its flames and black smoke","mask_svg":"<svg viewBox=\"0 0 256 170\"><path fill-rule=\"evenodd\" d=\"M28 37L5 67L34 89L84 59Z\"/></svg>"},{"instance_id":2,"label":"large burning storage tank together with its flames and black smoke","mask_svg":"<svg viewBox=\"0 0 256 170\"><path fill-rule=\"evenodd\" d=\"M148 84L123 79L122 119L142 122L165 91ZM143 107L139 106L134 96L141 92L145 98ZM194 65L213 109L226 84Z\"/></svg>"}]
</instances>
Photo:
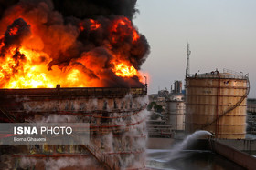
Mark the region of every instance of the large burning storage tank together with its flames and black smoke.
<instances>
[{"instance_id":1,"label":"large burning storage tank together with its flames and black smoke","mask_svg":"<svg viewBox=\"0 0 256 170\"><path fill-rule=\"evenodd\" d=\"M150 46L133 25L136 0L0 5L1 120L88 122L91 145L38 146L43 157L79 148L112 169L142 168L147 97L139 70ZM69 156L64 165L74 163Z\"/></svg>"}]
</instances>

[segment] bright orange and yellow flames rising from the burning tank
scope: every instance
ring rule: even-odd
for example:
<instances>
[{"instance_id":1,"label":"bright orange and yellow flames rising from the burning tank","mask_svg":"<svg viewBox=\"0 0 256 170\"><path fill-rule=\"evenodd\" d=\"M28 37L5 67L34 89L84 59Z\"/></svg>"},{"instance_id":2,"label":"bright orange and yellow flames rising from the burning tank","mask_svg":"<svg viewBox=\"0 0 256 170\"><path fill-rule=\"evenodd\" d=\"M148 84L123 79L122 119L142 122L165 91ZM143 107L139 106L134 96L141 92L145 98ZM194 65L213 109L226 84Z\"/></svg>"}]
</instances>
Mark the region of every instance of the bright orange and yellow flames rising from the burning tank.
<instances>
[{"instance_id":1,"label":"bright orange and yellow flames rising from the burning tank","mask_svg":"<svg viewBox=\"0 0 256 170\"><path fill-rule=\"evenodd\" d=\"M98 21L89 20L91 22L91 30L96 30L101 27ZM40 37L40 27L33 23L33 20L26 18L26 22L31 25L32 35L24 40L21 46L12 46L6 52L5 56L0 57L0 87L1 88L53 88L60 84L62 87L90 87L104 86L102 79L107 79L107 75L99 74L102 68L109 62L113 67L112 72L123 78L132 78L137 76L142 81L142 76L135 69L131 62L123 61L122 57L118 56L119 52L113 52L112 42L106 43L104 47L109 50L112 55L112 60L104 59L103 64L99 57L94 55L81 56L77 59L72 59L68 65L52 66L48 70L48 64L53 61L51 55L55 54L53 46L52 51L44 50L47 43L42 42ZM31 22L31 23L30 23ZM8 23L9 24L9 23ZM83 31L84 25L79 24L77 30ZM9 30L9 35L16 35L18 27ZM131 21L126 17L121 17L112 21L110 28L110 39L115 43L122 42L122 38L132 37L131 42L134 43L140 38L140 35L134 29ZM59 32L58 32L59 33ZM56 33L55 33L56 34ZM60 33L59 33L60 34ZM70 46L71 41L74 41L72 36L65 33L63 46ZM118 35L118 36L115 36ZM58 35L53 35L59 37ZM121 38L120 38L121 37ZM60 44L61 46L62 44ZM0 39L0 50L5 46L4 36ZM63 48L64 48L63 47ZM59 48L61 49L61 48ZM60 51L60 50L59 50ZM14 57L17 55L17 58ZM102 60L102 59L101 59ZM114 61L114 62L113 62ZM92 72L92 73L91 73Z\"/></svg>"}]
</instances>

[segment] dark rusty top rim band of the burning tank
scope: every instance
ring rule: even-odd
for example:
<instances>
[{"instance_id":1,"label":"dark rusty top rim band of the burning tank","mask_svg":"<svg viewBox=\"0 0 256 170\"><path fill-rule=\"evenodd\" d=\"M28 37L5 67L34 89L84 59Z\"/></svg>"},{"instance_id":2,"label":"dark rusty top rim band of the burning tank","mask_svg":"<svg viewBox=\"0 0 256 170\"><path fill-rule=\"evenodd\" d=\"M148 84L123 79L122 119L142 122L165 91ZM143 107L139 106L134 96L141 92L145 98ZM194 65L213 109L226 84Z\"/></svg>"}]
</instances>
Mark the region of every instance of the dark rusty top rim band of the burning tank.
<instances>
[{"instance_id":1,"label":"dark rusty top rim band of the burning tank","mask_svg":"<svg viewBox=\"0 0 256 170\"><path fill-rule=\"evenodd\" d=\"M73 88L29 88L29 89L0 89L0 100L6 97L123 97L127 94L133 96L146 95L146 87L73 87Z\"/></svg>"}]
</instances>

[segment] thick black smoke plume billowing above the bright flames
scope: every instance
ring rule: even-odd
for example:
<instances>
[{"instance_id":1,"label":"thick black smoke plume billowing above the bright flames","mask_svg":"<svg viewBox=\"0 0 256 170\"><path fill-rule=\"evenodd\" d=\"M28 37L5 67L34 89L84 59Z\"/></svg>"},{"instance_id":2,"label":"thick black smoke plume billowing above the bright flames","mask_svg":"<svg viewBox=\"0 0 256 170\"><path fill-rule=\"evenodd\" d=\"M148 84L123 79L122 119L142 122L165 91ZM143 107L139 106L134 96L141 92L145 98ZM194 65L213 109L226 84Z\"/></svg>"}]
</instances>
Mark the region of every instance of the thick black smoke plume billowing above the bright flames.
<instances>
[{"instance_id":1,"label":"thick black smoke plume billowing above the bright flames","mask_svg":"<svg viewBox=\"0 0 256 170\"><path fill-rule=\"evenodd\" d=\"M31 25L32 34L38 35L33 38L42 44L37 48L51 58L48 70L54 65L63 71L79 65L90 80L100 81L104 86L142 85L137 76L115 75L111 62L125 61L140 69L149 54L145 36L132 21L138 12L136 0L0 0L0 5L0 34L5 34L1 54L11 45L18 47L30 36ZM98 28L91 19L101 26ZM20 25L18 34L10 35L14 25Z\"/></svg>"}]
</instances>

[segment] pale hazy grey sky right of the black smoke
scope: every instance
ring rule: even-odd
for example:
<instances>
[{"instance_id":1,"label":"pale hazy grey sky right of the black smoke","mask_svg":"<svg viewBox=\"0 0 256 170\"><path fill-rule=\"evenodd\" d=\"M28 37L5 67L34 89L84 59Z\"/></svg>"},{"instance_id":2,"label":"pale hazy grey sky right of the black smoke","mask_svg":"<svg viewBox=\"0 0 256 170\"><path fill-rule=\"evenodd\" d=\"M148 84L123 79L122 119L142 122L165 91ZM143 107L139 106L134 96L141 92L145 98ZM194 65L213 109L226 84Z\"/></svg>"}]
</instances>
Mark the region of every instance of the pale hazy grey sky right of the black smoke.
<instances>
[{"instance_id":1,"label":"pale hazy grey sky right of the black smoke","mask_svg":"<svg viewBox=\"0 0 256 170\"><path fill-rule=\"evenodd\" d=\"M189 42L190 73L249 73L250 97L256 97L255 7L255 0L138 0L133 22L151 45L142 67L149 94L184 81Z\"/></svg>"}]
</instances>

